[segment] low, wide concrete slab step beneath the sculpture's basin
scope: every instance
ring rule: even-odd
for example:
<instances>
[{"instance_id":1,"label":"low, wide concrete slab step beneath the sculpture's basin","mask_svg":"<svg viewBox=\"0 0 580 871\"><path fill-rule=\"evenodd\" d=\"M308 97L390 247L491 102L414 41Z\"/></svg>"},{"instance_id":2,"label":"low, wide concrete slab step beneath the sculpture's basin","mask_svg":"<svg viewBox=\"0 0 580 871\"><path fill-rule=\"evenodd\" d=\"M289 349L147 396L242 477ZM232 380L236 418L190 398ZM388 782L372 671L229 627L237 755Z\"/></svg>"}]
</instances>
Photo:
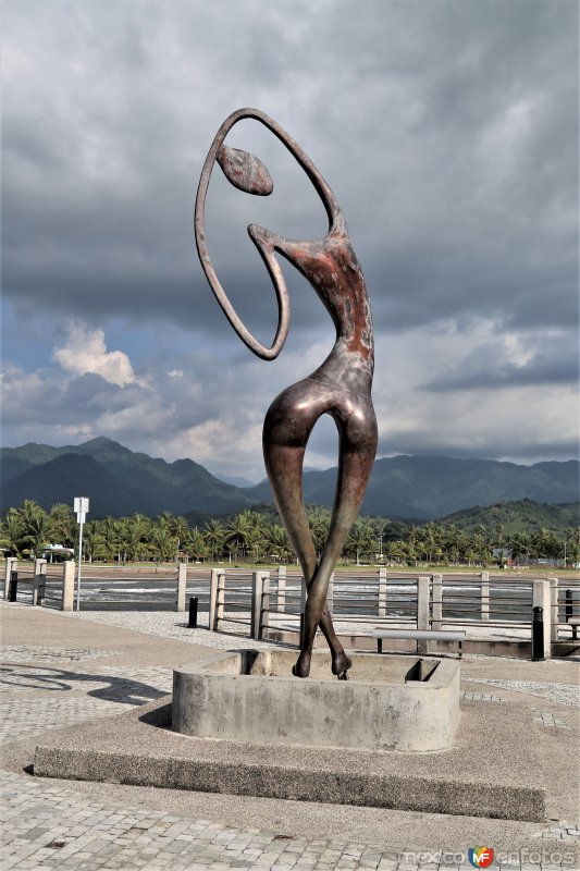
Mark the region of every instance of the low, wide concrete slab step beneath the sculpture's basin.
<instances>
[{"instance_id":1,"label":"low, wide concrete slab step beneath the sculpture's basin","mask_svg":"<svg viewBox=\"0 0 580 871\"><path fill-rule=\"evenodd\" d=\"M545 818L544 789L520 776L527 760L520 755L517 763L498 762L496 746L482 757L481 747L462 740L457 749L418 756L192 738L171 731L169 701L47 736L36 748L34 773L431 813ZM465 739L471 743L469 734Z\"/></svg>"}]
</instances>

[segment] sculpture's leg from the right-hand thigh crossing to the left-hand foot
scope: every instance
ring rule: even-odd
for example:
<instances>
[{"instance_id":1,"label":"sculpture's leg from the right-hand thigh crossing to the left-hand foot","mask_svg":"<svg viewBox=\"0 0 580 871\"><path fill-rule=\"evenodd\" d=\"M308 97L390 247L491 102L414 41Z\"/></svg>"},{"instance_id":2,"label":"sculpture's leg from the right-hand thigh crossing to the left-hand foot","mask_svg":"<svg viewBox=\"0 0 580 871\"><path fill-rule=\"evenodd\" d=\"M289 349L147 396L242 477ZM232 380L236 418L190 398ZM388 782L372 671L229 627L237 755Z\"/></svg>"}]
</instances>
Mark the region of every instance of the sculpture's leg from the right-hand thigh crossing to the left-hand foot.
<instances>
[{"instance_id":1,"label":"sculpture's leg from the right-hand thigh crossing to the left-hand foot","mask_svg":"<svg viewBox=\"0 0 580 871\"><path fill-rule=\"evenodd\" d=\"M294 667L294 674L299 677L308 677L310 672L314 635L325 606L330 578L357 517L374 462L377 422L370 401L363 410L366 412L365 419L368 426L363 427L358 433L356 429L359 429L360 424L357 422L355 426L350 426L353 418L346 426L340 419L337 420L341 430L341 461L336 496L329 538L320 564L308 588L303 643ZM344 650L343 658L337 659L336 663L333 662L333 672L340 678L346 679L346 671L350 667L350 662Z\"/></svg>"}]
</instances>

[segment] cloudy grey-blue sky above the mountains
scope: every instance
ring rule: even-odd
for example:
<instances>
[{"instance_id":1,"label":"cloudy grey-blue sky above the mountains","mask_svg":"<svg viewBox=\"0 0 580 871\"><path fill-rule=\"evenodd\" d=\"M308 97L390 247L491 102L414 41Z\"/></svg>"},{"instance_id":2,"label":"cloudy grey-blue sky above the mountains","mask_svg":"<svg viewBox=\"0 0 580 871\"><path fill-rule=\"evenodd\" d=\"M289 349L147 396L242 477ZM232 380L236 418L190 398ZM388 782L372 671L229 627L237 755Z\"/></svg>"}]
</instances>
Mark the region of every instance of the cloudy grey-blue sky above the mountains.
<instances>
[{"instance_id":1,"label":"cloudy grey-blue sky above the mountains","mask_svg":"<svg viewBox=\"0 0 580 871\"><path fill-rule=\"evenodd\" d=\"M3 443L108 436L263 477L272 398L333 328L284 266L277 360L239 342L197 261L215 131L260 108L345 212L377 341L380 456L530 463L577 453L576 0L4 0ZM323 209L254 122L251 197L219 169L207 229L223 286L270 344L250 222L322 236ZM307 465L336 462L330 419Z\"/></svg>"}]
</instances>

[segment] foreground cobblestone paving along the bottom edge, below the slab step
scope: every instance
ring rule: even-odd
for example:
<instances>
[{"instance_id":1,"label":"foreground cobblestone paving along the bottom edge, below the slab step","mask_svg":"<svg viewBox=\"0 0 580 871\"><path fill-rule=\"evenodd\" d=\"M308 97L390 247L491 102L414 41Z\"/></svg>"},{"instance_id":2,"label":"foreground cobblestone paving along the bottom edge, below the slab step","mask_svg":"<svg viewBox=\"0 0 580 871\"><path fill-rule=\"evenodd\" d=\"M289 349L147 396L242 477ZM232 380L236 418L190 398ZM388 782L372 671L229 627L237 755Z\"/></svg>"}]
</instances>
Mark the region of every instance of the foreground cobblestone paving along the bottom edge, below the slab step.
<instances>
[{"instance_id":1,"label":"foreground cobblestone paving along the bottom edge, below the slab step","mask_svg":"<svg viewBox=\"0 0 580 871\"><path fill-rule=\"evenodd\" d=\"M210 820L94 800L60 784L7 774L0 849L7 868L36 869L383 869L434 871L470 868L465 854L390 850L330 838L293 837L259 829L236 829ZM535 854L496 856L494 868L571 868L566 844L580 833L563 822L538 833L558 845ZM552 845L553 846L553 845Z\"/></svg>"}]
</instances>

